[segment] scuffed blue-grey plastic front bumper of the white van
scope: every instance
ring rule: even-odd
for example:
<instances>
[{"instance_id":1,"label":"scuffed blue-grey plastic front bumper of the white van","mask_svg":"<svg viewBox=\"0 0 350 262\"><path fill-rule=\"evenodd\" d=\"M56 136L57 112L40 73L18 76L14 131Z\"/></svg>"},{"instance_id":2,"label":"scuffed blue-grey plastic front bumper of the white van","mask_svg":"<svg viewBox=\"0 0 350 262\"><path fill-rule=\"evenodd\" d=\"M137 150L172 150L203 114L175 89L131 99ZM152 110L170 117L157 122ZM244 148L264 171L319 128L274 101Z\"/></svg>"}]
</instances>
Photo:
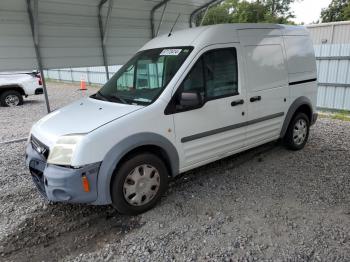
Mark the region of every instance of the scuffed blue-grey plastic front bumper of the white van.
<instances>
[{"instance_id":1,"label":"scuffed blue-grey plastic front bumper of the white van","mask_svg":"<svg viewBox=\"0 0 350 262\"><path fill-rule=\"evenodd\" d=\"M46 163L28 143L26 166L40 194L53 202L92 203L97 199L97 176L101 163L85 165L81 168L68 168ZM82 177L89 182L89 192L83 187Z\"/></svg>"}]
</instances>

